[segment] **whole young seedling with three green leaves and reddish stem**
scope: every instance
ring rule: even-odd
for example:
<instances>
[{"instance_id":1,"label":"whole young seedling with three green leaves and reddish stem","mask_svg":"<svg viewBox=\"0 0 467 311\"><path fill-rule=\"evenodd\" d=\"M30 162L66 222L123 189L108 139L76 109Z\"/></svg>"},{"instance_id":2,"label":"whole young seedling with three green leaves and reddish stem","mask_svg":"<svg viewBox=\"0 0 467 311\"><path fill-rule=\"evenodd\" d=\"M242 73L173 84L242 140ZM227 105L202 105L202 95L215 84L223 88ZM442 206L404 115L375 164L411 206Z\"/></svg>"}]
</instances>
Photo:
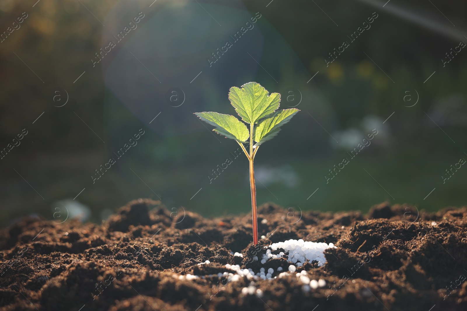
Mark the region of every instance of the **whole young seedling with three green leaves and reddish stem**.
<instances>
[{"instance_id":1,"label":"whole young seedling with three green leaves and reddish stem","mask_svg":"<svg viewBox=\"0 0 467 311\"><path fill-rule=\"evenodd\" d=\"M237 141L250 162L251 209L253 212L253 242L258 244L258 221L256 214L256 186L253 160L262 143L275 137L280 127L299 110L296 108L278 110L281 94L271 93L256 82L243 84L241 89L230 88L229 100L242 121L237 117L217 112L195 112L201 120L215 126L213 131ZM256 125L255 125L256 124ZM256 142L254 145L253 142ZM249 144L250 152L245 145Z\"/></svg>"}]
</instances>

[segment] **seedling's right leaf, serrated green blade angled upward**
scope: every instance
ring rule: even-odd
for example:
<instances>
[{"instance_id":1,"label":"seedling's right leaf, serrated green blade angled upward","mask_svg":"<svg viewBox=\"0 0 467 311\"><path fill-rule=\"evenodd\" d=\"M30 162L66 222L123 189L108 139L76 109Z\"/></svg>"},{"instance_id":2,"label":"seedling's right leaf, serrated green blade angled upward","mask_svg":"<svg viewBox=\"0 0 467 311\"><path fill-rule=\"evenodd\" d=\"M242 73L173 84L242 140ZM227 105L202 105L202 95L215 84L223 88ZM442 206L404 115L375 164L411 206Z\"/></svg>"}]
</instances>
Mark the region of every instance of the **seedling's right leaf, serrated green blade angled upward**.
<instances>
[{"instance_id":1,"label":"seedling's right leaf, serrated green blade angled upward","mask_svg":"<svg viewBox=\"0 0 467 311\"><path fill-rule=\"evenodd\" d=\"M283 109L271 113L269 116L260 120L253 131L253 139L256 142L255 146L259 146L265 141L275 137L280 131L280 127L287 122L298 112L296 108Z\"/></svg>"}]
</instances>

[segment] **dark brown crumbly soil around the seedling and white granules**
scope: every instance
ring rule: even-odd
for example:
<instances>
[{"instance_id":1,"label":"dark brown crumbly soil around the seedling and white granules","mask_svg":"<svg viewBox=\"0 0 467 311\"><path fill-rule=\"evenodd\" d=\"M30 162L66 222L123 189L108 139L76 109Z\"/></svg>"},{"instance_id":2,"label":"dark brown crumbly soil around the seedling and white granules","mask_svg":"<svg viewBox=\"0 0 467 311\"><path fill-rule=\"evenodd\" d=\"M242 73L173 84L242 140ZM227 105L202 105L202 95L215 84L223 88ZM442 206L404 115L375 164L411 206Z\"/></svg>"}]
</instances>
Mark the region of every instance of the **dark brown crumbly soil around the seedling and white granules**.
<instances>
[{"instance_id":1,"label":"dark brown crumbly soil around the seedling and white granules","mask_svg":"<svg viewBox=\"0 0 467 311\"><path fill-rule=\"evenodd\" d=\"M0 231L1 310L467 310L467 208L437 213L382 203L368 214L258 209L261 245L288 239L334 243L327 262L272 280L219 277L252 256L251 214L203 218L135 200L98 225L28 216ZM291 214L292 213L292 214ZM243 257L233 256L240 252ZM209 260L209 264L201 264ZM181 275L197 275L187 279ZM277 273L273 274L276 276ZM203 276L203 277L201 277ZM255 286L259 294L242 293ZM432 308L432 309L431 309Z\"/></svg>"}]
</instances>

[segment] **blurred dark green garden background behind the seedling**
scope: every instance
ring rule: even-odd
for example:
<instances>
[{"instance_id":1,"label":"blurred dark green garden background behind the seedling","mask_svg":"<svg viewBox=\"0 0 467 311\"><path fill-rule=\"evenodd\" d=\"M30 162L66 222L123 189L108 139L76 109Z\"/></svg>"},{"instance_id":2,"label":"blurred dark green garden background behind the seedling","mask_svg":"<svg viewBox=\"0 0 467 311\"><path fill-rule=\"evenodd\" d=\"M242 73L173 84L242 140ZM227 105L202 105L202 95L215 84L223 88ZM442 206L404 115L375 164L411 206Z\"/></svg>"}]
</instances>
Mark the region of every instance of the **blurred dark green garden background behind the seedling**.
<instances>
[{"instance_id":1,"label":"blurred dark green garden background behind the seedling","mask_svg":"<svg viewBox=\"0 0 467 311\"><path fill-rule=\"evenodd\" d=\"M31 213L100 222L140 197L205 216L249 212L246 157L192 115L234 114L228 88L249 81L301 110L255 158L258 204L465 205L467 168L442 176L467 159L467 52L442 60L467 42L467 4L385 2L1 0L1 148L28 134L0 161L0 225ZM137 28L112 39L140 12ZM255 28L210 66L256 12ZM373 12L371 28L347 39ZM93 66L109 40L116 47ZM349 47L326 66L343 41ZM93 182L140 129L138 144ZM226 158L233 163L211 180Z\"/></svg>"}]
</instances>

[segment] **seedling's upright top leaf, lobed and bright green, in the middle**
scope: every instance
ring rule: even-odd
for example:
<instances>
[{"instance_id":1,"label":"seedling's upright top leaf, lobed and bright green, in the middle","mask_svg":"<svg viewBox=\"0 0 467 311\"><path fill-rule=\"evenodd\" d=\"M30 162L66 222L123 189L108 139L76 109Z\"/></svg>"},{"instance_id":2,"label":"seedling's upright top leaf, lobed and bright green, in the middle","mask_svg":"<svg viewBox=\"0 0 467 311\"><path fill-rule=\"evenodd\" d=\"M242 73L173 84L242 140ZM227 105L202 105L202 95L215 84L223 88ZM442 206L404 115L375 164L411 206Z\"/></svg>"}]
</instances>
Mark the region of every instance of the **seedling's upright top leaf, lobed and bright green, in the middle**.
<instances>
[{"instance_id":1,"label":"seedling's upright top leaf, lobed and bright green, in the middle","mask_svg":"<svg viewBox=\"0 0 467 311\"><path fill-rule=\"evenodd\" d=\"M279 108L281 94L271 93L256 82L243 84L241 89L230 88L229 99L241 119L247 123L257 123L263 117Z\"/></svg>"}]
</instances>

